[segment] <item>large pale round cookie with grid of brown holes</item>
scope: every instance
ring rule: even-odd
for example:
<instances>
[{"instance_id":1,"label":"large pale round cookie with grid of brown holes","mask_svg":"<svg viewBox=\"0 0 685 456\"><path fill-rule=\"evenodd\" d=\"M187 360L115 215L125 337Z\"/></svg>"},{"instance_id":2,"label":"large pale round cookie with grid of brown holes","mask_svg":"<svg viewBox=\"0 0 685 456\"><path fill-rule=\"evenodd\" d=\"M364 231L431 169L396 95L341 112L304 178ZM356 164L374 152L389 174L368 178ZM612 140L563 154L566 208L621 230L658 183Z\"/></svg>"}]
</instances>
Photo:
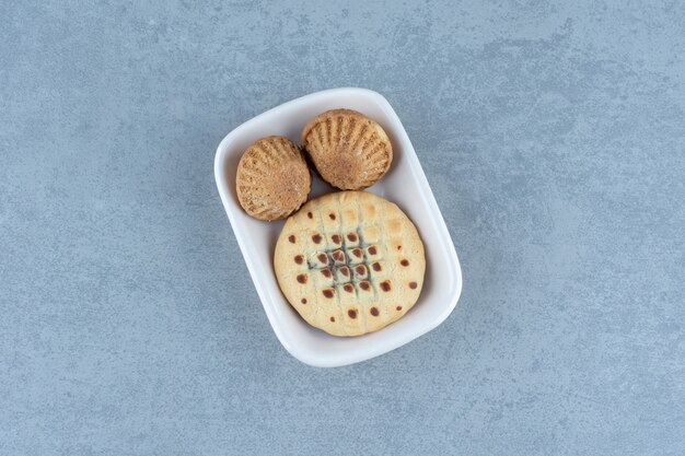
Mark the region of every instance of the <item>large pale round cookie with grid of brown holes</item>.
<instances>
[{"instance_id":1,"label":"large pale round cookie with grid of brown holes","mask_svg":"<svg viewBox=\"0 0 685 456\"><path fill-rule=\"evenodd\" d=\"M394 203L363 191L311 200L291 215L274 255L278 283L312 326L360 336L395 321L423 284L423 243Z\"/></svg>"}]
</instances>

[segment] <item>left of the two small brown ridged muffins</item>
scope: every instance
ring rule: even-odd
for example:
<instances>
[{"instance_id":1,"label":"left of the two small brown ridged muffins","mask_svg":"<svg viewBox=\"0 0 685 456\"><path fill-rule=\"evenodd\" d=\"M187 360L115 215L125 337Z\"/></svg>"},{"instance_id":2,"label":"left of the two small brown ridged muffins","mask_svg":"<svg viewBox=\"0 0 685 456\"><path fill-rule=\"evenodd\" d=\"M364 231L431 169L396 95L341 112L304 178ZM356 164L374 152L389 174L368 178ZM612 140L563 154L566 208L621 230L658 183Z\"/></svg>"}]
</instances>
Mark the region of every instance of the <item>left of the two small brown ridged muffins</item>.
<instances>
[{"instance_id":1,"label":"left of the two small brown ridged muffins","mask_svg":"<svg viewBox=\"0 0 685 456\"><path fill-rule=\"evenodd\" d=\"M253 143L237 165L237 200L259 220L285 219L306 201L312 176L302 151L283 137Z\"/></svg>"}]
</instances>

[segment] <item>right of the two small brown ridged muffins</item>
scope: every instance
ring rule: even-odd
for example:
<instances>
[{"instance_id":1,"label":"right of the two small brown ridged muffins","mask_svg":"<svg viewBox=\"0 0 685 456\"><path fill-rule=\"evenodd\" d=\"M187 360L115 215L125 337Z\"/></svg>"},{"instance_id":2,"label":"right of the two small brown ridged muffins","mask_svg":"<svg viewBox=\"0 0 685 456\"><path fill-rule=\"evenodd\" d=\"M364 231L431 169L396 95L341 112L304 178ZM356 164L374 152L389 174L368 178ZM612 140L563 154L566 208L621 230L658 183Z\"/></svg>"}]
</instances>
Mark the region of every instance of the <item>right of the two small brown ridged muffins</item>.
<instances>
[{"instance_id":1,"label":"right of the two small brown ridged muffins","mask_svg":"<svg viewBox=\"0 0 685 456\"><path fill-rule=\"evenodd\" d=\"M302 147L321 177L341 190L361 190L390 168L393 147L379 124L351 109L314 117L302 131Z\"/></svg>"}]
</instances>

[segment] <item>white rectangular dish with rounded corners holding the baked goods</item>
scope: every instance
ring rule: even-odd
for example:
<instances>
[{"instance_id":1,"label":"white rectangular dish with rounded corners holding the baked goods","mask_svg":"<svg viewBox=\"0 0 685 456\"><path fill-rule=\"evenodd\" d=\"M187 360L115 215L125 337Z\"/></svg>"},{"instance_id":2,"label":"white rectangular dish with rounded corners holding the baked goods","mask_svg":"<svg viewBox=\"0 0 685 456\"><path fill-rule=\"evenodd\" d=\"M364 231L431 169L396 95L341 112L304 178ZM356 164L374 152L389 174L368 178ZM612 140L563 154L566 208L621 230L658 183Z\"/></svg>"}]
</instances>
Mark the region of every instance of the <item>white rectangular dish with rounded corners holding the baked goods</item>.
<instances>
[{"instance_id":1,"label":"white rectangular dish with rounded corners holding the baked goods","mask_svg":"<svg viewBox=\"0 0 685 456\"><path fill-rule=\"evenodd\" d=\"M415 223L426 247L426 277L416 305L399 320L376 332L335 337L306 324L283 297L272 268L276 241L283 221L263 222L247 215L235 192L240 159L254 141L280 135L300 143L306 122L334 108L358 110L386 131L393 144L387 174L367 189L395 202ZM379 93L365 89L332 89L285 103L246 121L219 144L214 178L235 238L278 340L298 360L334 367L364 361L394 350L440 325L462 292L462 270L436 198L397 114ZM315 174L310 198L336 191Z\"/></svg>"}]
</instances>

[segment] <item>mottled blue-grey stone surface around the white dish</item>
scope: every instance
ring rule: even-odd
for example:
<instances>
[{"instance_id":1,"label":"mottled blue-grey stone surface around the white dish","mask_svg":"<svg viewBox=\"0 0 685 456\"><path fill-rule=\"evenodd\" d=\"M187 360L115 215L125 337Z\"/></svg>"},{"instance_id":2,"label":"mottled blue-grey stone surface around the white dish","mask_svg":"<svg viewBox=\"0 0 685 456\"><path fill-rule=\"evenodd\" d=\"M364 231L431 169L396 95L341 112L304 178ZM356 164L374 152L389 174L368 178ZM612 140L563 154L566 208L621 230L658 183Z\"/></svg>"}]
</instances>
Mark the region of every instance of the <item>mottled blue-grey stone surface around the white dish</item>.
<instances>
[{"instance_id":1,"label":"mottled blue-grey stone surface around the white dish","mask_svg":"<svg viewBox=\"0 0 685 456\"><path fill-rule=\"evenodd\" d=\"M685 454L685 5L287 3L0 3L0 454ZM320 370L212 160L350 85L403 119L464 292Z\"/></svg>"}]
</instances>

